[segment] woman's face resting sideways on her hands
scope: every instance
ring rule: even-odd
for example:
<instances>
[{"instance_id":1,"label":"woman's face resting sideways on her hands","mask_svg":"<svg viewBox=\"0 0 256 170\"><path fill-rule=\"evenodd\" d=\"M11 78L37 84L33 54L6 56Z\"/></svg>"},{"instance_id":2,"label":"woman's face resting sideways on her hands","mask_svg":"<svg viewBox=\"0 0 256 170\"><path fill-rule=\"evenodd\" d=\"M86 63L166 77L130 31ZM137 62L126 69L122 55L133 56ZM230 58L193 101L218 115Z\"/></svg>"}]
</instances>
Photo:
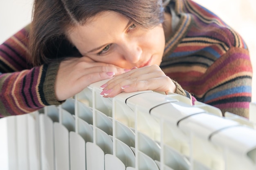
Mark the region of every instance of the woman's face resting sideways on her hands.
<instances>
[{"instance_id":1,"label":"woman's face resting sideways on her hands","mask_svg":"<svg viewBox=\"0 0 256 170\"><path fill-rule=\"evenodd\" d=\"M162 24L145 29L115 12L103 12L68 37L83 56L126 69L160 65L165 46Z\"/></svg>"}]
</instances>

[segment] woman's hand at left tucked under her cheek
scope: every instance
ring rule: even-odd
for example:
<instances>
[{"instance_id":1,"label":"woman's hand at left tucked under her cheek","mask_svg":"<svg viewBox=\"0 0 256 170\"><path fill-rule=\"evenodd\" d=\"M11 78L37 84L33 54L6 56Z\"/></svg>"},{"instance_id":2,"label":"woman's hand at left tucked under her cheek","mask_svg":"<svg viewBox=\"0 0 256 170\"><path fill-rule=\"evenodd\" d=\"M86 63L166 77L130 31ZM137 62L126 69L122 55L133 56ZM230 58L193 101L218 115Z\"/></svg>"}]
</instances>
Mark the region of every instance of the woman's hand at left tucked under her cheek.
<instances>
[{"instance_id":1,"label":"woman's hand at left tucked under her cheek","mask_svg":"<svg viewBox=\"0 0 256 170\"><path fill-rule=\"evenodd\" d=\"M125 72L115 65L94 62L88 57L69 58L61 61L55 82L58 101L66 100L81 92L88 85L112 78Z\"/></svg>"}]
</instances>

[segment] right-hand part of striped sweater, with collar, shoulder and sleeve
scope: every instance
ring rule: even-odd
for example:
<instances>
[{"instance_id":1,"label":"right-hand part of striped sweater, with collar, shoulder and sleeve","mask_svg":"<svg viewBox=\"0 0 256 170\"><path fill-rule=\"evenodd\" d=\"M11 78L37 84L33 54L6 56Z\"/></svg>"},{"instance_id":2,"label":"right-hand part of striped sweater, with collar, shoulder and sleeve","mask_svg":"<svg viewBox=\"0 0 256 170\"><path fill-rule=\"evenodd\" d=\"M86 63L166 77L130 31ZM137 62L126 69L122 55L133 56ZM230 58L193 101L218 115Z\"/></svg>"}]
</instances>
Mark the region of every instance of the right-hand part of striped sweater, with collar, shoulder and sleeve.
<instances>
[{"instance_id":1,"label":"right-hand part of striped sweater, with collar, shoulder and sleeve","mask_svg":"<svg viewBox=\"0 0 256 170\"><path fill-rule=\"evenodd\" d=\"M252 64L242 37L191 0L176 0L174 9L180 21L166 39L162 70L198 101L248 118Z\"/></svg>"}]
</instances>

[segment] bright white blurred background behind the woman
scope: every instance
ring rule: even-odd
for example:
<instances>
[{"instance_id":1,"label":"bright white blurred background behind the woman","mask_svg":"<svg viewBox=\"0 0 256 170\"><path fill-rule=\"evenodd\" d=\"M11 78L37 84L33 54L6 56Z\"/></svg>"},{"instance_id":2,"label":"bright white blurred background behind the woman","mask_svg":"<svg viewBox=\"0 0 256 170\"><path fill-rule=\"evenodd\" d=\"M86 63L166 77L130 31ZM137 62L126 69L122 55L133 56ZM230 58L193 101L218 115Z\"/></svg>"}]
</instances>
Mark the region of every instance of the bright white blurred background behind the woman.
<instances>
[{"instance_id":1,"label":"bright white blurred background behind the woman","mask_svg":"<svg viewBox=\"0 0 256 170\"><path fill-rule=\"evenodd\" d=\"M210 9L245 39L256 70L256 1L195 0ZM31 21L33 0L0 0L0 43ZM253 77L252 101L256 101L256 76Z\"/></svg>"}]
</instances>

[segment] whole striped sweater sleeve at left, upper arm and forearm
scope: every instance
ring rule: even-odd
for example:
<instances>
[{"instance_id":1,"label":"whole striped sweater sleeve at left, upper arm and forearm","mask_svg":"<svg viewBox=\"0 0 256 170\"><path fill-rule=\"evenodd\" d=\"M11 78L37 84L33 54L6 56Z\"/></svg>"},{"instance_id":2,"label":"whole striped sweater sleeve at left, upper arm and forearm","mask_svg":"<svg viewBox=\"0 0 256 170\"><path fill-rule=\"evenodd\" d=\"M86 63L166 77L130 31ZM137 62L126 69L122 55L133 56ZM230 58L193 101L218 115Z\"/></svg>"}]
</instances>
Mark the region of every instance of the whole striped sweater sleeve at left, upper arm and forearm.
<instances>
[{"instance_id":1,"label":"whole striped sweater sleeve at left, upper arm and forearm","mask_svg":"<svg viewBox=\"0 0 256 170\"><path fill-rule=\"evenodd\" d=\"M0 45L0 117L60 104L54 92L59 63L29 64L28 31L29 26Z\"/></svg>"}]
</instances>

